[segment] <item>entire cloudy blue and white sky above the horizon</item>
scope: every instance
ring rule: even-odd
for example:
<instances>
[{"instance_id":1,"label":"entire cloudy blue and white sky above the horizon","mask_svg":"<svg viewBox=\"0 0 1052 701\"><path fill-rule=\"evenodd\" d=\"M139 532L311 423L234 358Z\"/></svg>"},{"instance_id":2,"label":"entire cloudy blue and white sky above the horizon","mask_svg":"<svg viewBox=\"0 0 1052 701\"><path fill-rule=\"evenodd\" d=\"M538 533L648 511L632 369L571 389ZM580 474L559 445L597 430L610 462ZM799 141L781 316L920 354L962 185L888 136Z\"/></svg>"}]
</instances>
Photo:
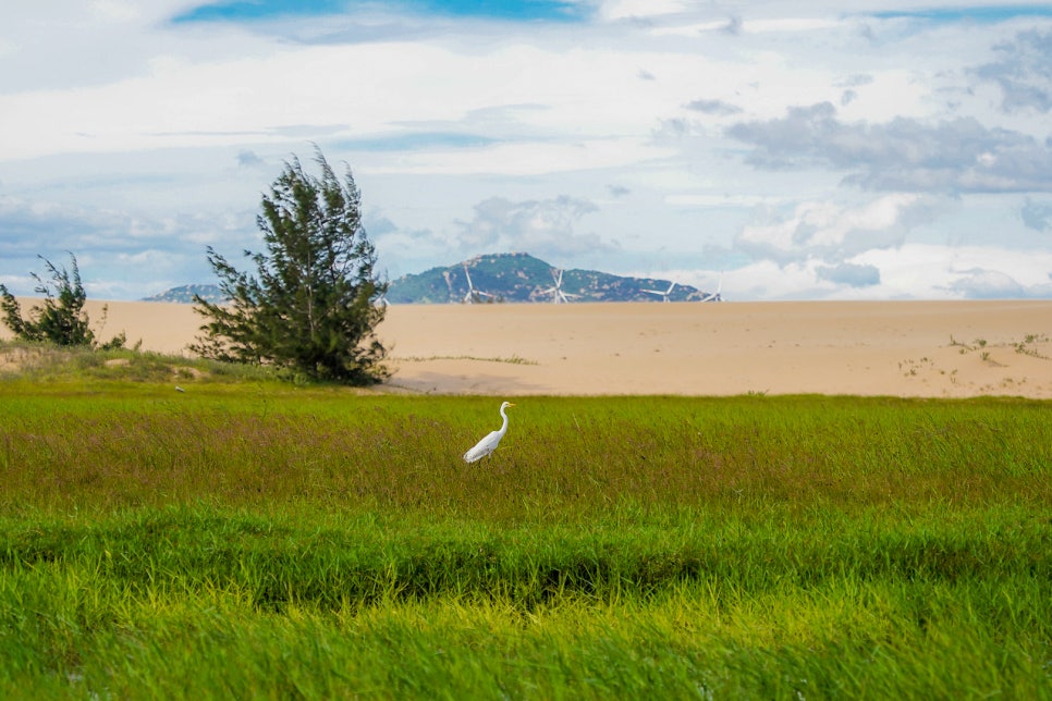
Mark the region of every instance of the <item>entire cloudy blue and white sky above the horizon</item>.
<instances>
[{"instance_id":1,"label":"entire cloudy blue and white sky above the horizon","mask_svg":"<svg viewBox=\"0 0 1052 701\"><path fill-rule=\"evenodd\" d=\"M1052 4L12 3L0 283L252 270L318 148L391 280L525 251L729 300L1052 298L1050 112Z\"/></svg>"}]
</instances>

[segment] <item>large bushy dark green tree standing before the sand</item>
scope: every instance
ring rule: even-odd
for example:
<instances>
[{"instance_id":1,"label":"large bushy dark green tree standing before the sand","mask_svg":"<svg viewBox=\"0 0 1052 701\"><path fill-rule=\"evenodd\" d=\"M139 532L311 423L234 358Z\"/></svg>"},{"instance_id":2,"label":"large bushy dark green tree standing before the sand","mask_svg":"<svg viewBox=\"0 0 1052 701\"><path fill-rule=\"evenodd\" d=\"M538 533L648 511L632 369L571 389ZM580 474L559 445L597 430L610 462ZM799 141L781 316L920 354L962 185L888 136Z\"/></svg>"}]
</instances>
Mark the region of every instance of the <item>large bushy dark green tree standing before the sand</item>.
<instances>
[{"instance_id":1,"label":"large bushy dark green tree standing before the sand","mask_svg":"<svg viewBox=\"0 0 1052 701\"><path fill-rule=\"evenodd\" d=\"M195 295L208 321L191 349L208 358L268 364L313 379L371 384L387 377L376 337L387 283L374 273L376 251L362 226L351 169L341 181L321 151L320 177L285 162L256 223L265 253L245 251L242 272L208 247L208 262L229 302Z\"/></svg>"}]
</instances>

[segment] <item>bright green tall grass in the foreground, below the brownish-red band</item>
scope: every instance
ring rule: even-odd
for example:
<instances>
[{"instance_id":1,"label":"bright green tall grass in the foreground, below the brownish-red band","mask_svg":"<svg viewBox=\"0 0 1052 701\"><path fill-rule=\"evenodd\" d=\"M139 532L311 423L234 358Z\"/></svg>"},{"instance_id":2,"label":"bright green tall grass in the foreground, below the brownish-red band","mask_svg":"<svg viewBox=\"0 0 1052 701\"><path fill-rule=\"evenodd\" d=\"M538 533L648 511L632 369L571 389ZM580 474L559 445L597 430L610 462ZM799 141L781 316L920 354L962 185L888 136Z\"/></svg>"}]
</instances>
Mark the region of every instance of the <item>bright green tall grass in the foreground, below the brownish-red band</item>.
<instances>
[{"instance_id":1,"label":"bright green tall grass in the foreground, below the brownish-red band","mask_svg":"<svg viewBox=\"0 0 1052 701\"><path fill-rule=\"evenodd\" d=\"M184 506L8 521L0 688L440 698L1050 688L1052 542L1025 512L977 509L956 525L695 516L496 528Z\"/></svg>"}]
</instances>

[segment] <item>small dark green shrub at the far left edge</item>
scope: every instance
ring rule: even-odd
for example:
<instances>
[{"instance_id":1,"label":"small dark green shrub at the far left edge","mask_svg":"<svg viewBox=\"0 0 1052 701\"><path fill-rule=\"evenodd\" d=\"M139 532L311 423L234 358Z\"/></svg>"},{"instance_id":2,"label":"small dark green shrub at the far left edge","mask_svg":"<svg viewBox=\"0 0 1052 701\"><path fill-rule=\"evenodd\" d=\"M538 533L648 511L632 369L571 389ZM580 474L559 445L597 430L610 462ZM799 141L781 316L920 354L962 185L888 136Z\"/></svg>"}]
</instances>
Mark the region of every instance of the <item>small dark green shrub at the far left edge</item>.
<instances>
[{"instance_id":1,"label":"small dark green shrub at the far left edge","mask_svg":"<svg viewBox=\"0 0 1052 701\"><path fill-rule=\"evenodd\" d=\"M81 271L76 257L70 254L72 271L58 268L42 256L50 281L42 280L37 273L29 273L37 281L36 292L44 295L44 306L34 307L29 318L23 318L22 306L8 288L0 284L0 308L3 309L4 323L23 341L47 342L60 346L96 347L95 333L89 327L88 315L84 311L87 294L81 283ZM102 308L103 318L106 307ZM123 333L102 344L103 349L124 346Z\"/></svg>"}]
</instances>

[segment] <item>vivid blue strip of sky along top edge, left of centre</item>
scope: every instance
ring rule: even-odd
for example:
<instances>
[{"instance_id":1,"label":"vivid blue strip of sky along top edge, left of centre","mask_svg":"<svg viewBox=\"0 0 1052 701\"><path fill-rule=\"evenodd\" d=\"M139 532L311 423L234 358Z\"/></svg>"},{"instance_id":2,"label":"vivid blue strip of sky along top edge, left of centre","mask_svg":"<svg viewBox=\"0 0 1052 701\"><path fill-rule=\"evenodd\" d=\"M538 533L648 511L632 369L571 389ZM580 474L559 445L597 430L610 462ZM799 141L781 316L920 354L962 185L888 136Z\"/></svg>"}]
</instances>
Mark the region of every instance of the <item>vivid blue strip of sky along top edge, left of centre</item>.
<instances>
[{"instance_id":1,"label":"vivid blue strip of sky along top edge, left of centre","mask_svg":"<svg viewBox=\"0 0 1052 701\"><path fill-rule=\"evenodd\" d=\"M173 22L252 22L353 12L368 4L354 0L235 0L211 2L187 10ZM567 22L583 20L584 8L567 0L397 0L387 3L404 12L448 17Z\"/></svg>"}]
</instances>

